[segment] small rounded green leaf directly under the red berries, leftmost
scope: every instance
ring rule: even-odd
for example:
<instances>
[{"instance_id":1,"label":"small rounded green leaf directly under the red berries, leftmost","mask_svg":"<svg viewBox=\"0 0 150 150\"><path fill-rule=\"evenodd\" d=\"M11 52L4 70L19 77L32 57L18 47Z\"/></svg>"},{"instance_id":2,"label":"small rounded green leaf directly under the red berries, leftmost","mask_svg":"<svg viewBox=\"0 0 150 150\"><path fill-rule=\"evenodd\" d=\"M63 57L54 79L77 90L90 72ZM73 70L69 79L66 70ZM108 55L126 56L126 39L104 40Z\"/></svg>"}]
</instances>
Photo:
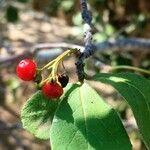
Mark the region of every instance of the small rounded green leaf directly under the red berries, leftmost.
<instances>
[{"instance_id":1,"label":"small rounded green leaf directly under the red berries, leftmost","mask_svg":"<svg viewBox=\"0 0 150 150\"><path fill-rule=\"evenodd\" d=\"M46 98L41 91L35 93L23 106L23 128L41 139L49 139L49 130L58 101Z\"/></svg>"}]
</instances>

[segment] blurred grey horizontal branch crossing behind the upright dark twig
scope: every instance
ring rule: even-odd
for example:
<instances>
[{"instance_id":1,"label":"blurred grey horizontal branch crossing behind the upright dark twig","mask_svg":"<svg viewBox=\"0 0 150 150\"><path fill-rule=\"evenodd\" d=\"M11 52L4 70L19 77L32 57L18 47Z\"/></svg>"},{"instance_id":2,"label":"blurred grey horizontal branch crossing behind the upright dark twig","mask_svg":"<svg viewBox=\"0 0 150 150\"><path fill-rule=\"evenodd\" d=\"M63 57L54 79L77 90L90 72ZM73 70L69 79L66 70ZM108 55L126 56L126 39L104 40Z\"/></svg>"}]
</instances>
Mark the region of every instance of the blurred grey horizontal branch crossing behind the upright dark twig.
<instances>
[{"instance_id":1,"label":"blurred grey horizontal branch crossing behind the upright dark twig","mask_svg":"<svg viewBox=\"0 0 150 150\"><path fill-rule=\"evenodd\" d=\"M106 50L114 51L147 51L150 52L150 40L148 39L141 39L141 38L118 38L118 39L111 39L108 41L104 41L101 43L96 43L94 45L97 52L103 52ZM19 55L11 55L9 57L0 57L0 67L7 66L13 64L15 62L20 61L21 59L27 57L33 57L38 53L38 51L43 49L50 49L50 48L77 48L80 49L81 52L84 51L84 47L81 45L71 44L71 43L43 43L37 44L31 48L30 51L25 51ZM83 56L82 56L83 57ZM84 66L83 66L84 67Z\"/></svg>"}]
</instances>

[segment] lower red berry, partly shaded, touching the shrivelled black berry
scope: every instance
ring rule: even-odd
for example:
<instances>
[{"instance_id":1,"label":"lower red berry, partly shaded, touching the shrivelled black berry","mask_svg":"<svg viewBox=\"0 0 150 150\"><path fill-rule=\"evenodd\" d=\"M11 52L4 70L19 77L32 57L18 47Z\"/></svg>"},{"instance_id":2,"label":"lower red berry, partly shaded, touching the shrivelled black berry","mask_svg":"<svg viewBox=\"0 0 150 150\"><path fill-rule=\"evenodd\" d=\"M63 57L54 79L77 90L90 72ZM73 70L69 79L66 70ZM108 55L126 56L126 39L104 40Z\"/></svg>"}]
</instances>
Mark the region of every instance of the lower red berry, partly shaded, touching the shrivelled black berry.
<instances>
[{"instance_id":1,"label":"lower red berry, partly shaded, touching the shrivelled black berry","mask_svg":"<svg viewBox=\"0 0 150 150\"><path fill-rule=\"evenodd\" d=\"M58 83L45 83L42 92L48 98L56 99L63 94L63 88Z\"/></svg>"}]
</instances>

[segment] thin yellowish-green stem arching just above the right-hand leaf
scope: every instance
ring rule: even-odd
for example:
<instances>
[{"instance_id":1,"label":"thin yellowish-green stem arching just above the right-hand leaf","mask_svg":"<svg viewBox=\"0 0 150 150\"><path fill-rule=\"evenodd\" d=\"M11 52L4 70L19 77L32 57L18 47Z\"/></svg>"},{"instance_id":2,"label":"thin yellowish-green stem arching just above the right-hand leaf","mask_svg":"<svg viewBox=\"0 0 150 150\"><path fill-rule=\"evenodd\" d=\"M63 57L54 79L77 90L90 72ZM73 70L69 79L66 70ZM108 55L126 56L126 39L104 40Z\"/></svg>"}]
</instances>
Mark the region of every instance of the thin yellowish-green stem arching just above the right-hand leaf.
<instances>
[{"instance_id":1,"label":"thin yellowish-green stem arching just above the right-hand leaf","mask_svg":"<svg viewBox=\"0 0 150 150\"><path fill-rule=\"evenodd\" d=\"M112 67L110 71L115 71L115 70L120 70L120 69L134 70L134 71L138 71L138 72L150 75L150 71L137 68L137 67L132 67L132 66L115 66L115 67Z\"/></svg>"}]
</instances>

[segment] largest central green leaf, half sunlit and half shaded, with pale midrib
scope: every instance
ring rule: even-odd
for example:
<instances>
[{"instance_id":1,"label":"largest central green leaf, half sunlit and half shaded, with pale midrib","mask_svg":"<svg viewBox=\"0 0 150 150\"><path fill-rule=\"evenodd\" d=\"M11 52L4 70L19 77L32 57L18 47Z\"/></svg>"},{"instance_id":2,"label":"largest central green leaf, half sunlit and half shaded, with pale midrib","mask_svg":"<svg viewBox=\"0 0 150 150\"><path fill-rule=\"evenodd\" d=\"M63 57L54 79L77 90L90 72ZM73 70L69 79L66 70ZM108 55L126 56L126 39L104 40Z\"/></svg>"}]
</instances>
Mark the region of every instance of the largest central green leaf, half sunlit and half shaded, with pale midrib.
<instances>
[{"instance_id":1,"label":"largest central green leaf, half sunlit and half shaded, with pale midrib","mask_svg":"<svg viewBox=\"0 0 150 150\"><path fill-rule=\"evenodd\" d=\"M72 85L56 110L50 129L53 150L131 150L114 109L86 83Z\"/></svg>"}]
</instances>

